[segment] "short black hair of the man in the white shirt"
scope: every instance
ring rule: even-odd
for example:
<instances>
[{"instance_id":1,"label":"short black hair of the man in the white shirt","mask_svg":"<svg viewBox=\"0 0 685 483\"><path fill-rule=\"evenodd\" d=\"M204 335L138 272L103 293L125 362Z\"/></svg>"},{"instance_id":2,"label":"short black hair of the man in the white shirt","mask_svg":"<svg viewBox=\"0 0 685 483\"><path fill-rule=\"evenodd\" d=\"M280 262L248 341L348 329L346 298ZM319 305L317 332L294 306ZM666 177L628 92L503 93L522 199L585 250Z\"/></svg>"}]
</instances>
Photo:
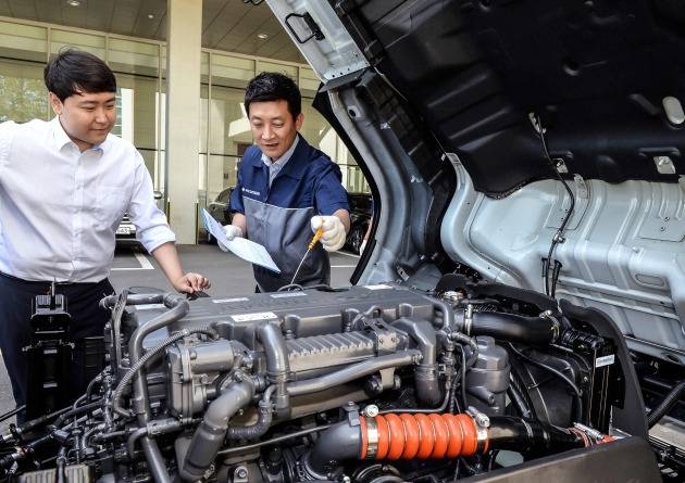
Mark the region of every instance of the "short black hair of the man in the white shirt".
<instances>
[{"instance_id":1,"label":"short black hair of the man in the white shirt","mask_svg":"<svg viewBox=\"0 0 685 483\"><path fill-rule=\"evenodd\" d=\"M79 92L116 92L114 73L96 55L68 49L52 58L43 77L49 92L60 101Z\"/></svg>"}]
</instances>

